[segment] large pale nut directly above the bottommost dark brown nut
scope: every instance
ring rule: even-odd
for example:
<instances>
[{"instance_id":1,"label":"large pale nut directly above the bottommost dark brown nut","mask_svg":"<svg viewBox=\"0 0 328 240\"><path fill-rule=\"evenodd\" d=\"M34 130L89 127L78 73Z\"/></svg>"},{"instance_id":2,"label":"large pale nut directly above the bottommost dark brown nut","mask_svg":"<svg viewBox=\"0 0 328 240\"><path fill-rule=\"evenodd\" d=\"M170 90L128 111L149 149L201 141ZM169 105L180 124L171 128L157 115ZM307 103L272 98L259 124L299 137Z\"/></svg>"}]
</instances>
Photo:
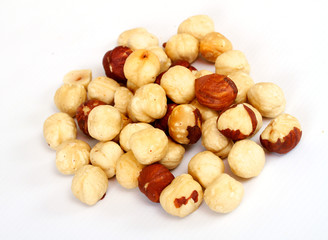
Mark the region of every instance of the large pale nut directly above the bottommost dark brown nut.
<instances>
[{"instance_id":1,"label":"large pale nut directly above the bottommost dark brown nut","mask_svg":"<svg viewBox=\"0 0 328 240\"><path fill-rule=\"evenodd\" d=\"M135 158L144 165L161 160L168 151L168 138L158 128L146 128L132 134L130 147Z\"/></svg>"}]
</instances>

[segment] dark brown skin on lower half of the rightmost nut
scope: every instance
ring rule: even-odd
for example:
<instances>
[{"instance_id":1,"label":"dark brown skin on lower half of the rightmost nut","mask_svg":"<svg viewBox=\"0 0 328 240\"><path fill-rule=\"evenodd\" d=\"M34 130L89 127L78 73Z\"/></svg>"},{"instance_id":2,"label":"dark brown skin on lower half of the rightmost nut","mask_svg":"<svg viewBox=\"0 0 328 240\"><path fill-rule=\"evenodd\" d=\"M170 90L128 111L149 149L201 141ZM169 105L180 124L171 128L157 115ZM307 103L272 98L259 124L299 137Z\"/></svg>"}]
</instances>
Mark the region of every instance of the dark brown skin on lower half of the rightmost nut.
<instances>
[{"instance_id":1,"label":"dark brown skin on lower half of the rightmost nut","mask_svg":"<svg viewBox=\"0 0 328 240\"><path fill-rule=\"evenodd\" d=\"M275 152L279 154L285 154L290 152L292 149L296 147L302 137L302 131L296 127L294 127L287 136L281 140L278 139L277 142L270 142L267 139L262 139L260 136L260 142L262 146L268 150L269 152Z\"/></svg>"}]
</instances>

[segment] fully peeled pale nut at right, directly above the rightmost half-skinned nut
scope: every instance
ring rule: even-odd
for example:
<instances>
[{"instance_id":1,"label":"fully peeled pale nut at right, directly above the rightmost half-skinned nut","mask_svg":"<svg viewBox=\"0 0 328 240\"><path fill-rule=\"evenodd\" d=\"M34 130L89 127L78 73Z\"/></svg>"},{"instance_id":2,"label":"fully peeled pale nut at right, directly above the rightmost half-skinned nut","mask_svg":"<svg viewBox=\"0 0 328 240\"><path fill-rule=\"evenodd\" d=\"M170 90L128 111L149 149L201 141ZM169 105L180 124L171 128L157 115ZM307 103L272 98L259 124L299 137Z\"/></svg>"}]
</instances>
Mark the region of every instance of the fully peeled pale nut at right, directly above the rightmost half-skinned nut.
<instances>
[{"instance_id":1,"label":"fully peeled pale nut at right, directly above the rightmost half-skinned nut","mask_svg":"<svg viewBox=\"0 0 328 240\"><path fill-rule=\"evenodd\" d=\"M282 89L271 82L256 83L247 91L247 99L263 117L275 118L283 113L286 99Z\"/></svg>"}]
</instances>

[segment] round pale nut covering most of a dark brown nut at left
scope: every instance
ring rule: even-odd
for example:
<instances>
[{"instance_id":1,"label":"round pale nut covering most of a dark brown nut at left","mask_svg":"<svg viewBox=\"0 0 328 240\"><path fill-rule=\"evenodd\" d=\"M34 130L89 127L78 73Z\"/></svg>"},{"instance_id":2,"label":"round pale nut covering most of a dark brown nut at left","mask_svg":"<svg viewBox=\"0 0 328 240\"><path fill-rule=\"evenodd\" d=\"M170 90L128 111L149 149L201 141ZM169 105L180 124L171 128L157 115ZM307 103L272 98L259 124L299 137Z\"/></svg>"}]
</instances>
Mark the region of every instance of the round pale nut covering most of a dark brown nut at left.
<instances>
[{"instance_id":1,"label":"round pale nut covering most of a dark brown nut at left","mask_svg":"<svg viewBox=\"0 0 328 240\"><path fill-rule=\"evenodd\" d=\"M99 141L114 139L120 133L122 126L121 113L113 106L100 105L89 113L89 134Z\"/></svg>"}]
</instances>

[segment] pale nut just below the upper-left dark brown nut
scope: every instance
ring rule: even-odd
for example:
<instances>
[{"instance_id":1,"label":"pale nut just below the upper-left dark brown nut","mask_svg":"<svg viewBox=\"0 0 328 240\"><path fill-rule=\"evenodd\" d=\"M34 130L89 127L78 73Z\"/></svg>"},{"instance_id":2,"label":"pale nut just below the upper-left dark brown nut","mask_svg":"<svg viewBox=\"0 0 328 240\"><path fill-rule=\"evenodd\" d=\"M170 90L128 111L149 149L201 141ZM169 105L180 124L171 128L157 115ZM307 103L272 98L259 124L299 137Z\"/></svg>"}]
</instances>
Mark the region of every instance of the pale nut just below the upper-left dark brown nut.
<instances>
[{"instance_id":1,"label":"pale nut just below the upper-left dark brown nut","mask_svg":"<svg viewBox=\"0 0 328 240\"><path fill-rule=\"evenodd\" d=\"M108 77L97 77L89 83L88 98L112 104L115 91L119 86L118 82L114 79Z\"/></svg>"}]
</instances>

